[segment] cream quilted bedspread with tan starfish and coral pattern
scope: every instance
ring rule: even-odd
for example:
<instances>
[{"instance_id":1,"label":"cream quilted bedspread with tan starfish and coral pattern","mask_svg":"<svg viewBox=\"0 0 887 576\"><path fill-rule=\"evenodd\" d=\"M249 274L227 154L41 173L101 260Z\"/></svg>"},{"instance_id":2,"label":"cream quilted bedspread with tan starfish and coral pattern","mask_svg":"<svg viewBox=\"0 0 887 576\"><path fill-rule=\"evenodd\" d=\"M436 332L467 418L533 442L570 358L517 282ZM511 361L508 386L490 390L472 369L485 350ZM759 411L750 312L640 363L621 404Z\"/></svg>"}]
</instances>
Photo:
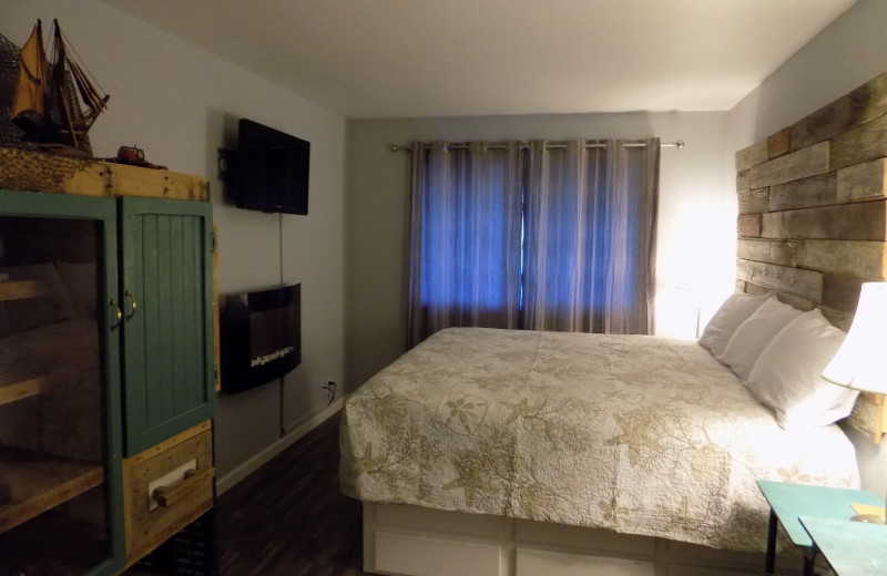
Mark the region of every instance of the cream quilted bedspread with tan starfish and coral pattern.
<instances>
[{"instance_id":1,"label":"cream quilted bedspread with tan starfish and coral pattern","mask_svg":"<svg viewBox=\"0 0 887 576\"><path fill-rule=\"evenodd\" d=\"M782 430L695 342L447 329L341 423L343 491L376 503L763 549L768 479L858 485L837 426Z\"/></svg>"}]
</instances>

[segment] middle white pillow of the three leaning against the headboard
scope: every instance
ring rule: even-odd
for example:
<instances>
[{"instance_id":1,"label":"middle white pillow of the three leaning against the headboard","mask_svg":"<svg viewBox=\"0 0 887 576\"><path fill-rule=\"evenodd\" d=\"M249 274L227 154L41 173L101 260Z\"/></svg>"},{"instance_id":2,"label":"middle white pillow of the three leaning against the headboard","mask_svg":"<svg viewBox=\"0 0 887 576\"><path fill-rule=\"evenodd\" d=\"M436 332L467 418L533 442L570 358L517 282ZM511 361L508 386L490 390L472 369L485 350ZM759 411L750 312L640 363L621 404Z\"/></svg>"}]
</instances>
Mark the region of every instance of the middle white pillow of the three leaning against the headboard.
<instances>
[{"instance_id":1,"label":"middle white pillow of the three leaning against the headboard","mask_svg":"<svg viewBox=\"0 0 887 576\"><path fill-rule=\"evenodd\" d=\"M724 353L717 356L733 373L745 380L752 373L757 358L785 326L803 312L771 297L730 337Z\"/></svg>"}]
</instances>

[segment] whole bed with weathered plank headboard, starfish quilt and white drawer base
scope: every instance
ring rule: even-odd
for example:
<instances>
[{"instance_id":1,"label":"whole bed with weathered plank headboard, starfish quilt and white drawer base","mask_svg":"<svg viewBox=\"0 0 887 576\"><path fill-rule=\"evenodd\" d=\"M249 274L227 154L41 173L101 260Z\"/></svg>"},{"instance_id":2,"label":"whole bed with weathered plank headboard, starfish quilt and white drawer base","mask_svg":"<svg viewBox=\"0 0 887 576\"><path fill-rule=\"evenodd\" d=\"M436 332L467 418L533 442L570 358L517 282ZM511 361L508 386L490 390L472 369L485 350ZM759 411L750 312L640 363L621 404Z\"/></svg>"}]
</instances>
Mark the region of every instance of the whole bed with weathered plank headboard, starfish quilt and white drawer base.
<instances>
[{"instance_id":1,"label":"whole bed with weathered plank headboard, starfish quilt and white drawer base","mask_svg":"<svg viewBox=\"0 0 887 576\"><path fill-rule=\"evenodd\" d=\"M736 153L737 295L772 295L846 330L861 282L887 279L886 102L887 73ZM761 574L767 508L755 480L856 486L848 436L864 477L883 473L868 444L887 432L883 398L855 401L847 435L786 430L794 418L766 379L741 383L757 353L788 358L791 340L722 362L724 349L653 337L429 338L344 410L340 480L364 502L364 569Z\"/></svg>"}]
</instances>

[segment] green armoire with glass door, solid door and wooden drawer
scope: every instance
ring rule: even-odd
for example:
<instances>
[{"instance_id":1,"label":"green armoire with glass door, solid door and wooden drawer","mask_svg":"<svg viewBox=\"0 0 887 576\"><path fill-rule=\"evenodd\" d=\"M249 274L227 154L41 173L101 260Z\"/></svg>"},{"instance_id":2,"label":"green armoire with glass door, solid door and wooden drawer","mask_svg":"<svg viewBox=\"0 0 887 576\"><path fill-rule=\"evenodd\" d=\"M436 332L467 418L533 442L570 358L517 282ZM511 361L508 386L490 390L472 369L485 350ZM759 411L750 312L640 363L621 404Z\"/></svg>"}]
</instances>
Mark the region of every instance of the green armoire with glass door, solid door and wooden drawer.
<instances>
[{"instance_id":1,"label":"green armoire with glass door, solid door and wooden drawer","mask_svg":"<svg viewBox=\"0 0 887 576\"><path fill-rule=\"evenodd\" d=\"M212 250L208 202L0 191L0 574L132 564L124 464L198 425L212 506Z\"/></svg>"}]
</instances>

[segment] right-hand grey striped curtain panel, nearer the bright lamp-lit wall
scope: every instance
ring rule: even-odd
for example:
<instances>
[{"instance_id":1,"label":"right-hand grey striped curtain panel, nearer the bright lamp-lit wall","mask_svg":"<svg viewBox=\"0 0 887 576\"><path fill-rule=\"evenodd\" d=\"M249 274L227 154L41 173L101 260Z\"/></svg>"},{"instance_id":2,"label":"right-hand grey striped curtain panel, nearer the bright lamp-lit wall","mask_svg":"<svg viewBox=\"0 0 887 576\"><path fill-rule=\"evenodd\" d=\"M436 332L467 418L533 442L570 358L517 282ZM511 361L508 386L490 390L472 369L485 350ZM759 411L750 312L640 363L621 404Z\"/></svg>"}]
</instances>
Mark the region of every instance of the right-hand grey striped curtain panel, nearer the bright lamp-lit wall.
<instances>
[{"instance_id":1,"label":"right-hand grey striped curtain panel, nearer the bright lamp-lit wall","mask_svg":"<svg viewBox=\"0 0 887 576\"><path fill-rule=\"evenodd\" d=\"M659 138L530 143L523 328L653 333Z\"/></svg>"}]
</instances>

